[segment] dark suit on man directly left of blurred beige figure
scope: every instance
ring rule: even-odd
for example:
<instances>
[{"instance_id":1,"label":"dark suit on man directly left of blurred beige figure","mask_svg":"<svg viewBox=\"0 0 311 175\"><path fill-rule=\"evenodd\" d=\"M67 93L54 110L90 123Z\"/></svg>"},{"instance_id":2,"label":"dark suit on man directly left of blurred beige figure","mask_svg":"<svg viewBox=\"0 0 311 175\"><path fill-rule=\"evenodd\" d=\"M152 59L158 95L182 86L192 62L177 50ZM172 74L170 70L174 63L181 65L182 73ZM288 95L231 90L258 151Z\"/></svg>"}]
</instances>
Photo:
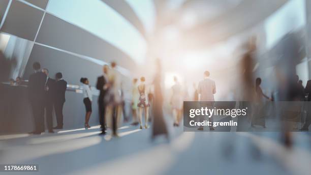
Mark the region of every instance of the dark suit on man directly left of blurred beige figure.
<instances>
[{"instance_id":1,"label":"dark suit on man directly left of blurred beige figure","mask_svg":"<svg viewBox=\"0 0 311 175\"><path fill-rule=\"evenodd\" d=\"M106 112L106 104L104 102L105 95L107 90L104 89L104 85L107 83L107 79L104 75L97 78L96 88L100 91L100 95L98 97L98 107L99 107L99 119L100 124L102 127L102 131L105 132L106 130L106 123L105 123L105 112Z\"/></svg>"}]
</instances>

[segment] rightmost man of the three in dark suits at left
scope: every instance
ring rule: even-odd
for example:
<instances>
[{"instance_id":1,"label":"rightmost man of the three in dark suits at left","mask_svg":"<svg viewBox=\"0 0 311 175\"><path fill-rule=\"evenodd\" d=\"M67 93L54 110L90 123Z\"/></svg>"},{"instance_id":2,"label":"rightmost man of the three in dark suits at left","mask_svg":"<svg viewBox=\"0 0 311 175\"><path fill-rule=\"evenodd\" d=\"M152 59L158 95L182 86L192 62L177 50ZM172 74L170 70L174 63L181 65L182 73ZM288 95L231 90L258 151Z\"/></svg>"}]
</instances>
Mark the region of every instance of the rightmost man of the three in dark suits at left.
<instances>
[{"instance_id":1,"label":"rightmost man of the three in dark suits at left","mask_svg":"<svg viewBox=\"0 0 311 175\"><path fill-rule=\"evenodd\" d=\"M66 101L65 93L67 89L67 81L63 79L63 74L60 72L56 73L55 82L55 95L54 95L54 108L56 114L57 126L53 129L63 129L63 107Z\"/></svg>"}]
</instances>

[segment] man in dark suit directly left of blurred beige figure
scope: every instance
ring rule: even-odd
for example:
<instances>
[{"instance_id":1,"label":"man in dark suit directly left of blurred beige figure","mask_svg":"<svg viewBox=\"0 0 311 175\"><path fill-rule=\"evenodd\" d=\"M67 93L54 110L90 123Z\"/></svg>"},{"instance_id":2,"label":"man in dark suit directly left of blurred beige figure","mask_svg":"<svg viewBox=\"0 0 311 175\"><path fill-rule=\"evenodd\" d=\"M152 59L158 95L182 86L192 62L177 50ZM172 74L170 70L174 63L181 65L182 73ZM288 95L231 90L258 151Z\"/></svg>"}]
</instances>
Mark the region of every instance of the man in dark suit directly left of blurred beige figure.
<instances>
[{"instance_id":1,"label":"man in dark suit directly left of blurred beige figure","mask_svg":"<svg viewBox=\"0 0 311 175\"><path fill-rule=\"evenodd\" d=\"M100 91L100 95L98 97L98 107L99 107L99 120L102 128L101 134L106 134L106 122L105 122L105 109L106 104L104 102L104 98L107 94L108 90L108 65L103 67L103 75L97 78L96 88Z\"/></svg>"}]
</instances>

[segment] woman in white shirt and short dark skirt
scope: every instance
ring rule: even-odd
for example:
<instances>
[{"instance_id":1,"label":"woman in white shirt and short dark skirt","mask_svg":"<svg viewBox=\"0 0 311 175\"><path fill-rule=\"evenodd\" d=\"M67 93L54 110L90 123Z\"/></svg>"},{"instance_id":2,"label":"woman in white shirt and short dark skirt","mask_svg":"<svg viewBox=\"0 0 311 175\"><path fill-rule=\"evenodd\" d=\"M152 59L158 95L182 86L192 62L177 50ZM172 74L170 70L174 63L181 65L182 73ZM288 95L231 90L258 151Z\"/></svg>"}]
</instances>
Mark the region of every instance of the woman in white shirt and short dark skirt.
<instances>
[{"instance_id":1,"label":"woman in white shirt and short dark skirt","mask_svg":"<svg viewBox=\"0 0 311 175\"><path fill-rule=\"evenodd\" d=\"M87 78L81 78L80 82L83 83L82 88L83 88L83 103L85 105L85 128L90 128L88 125L88 121L90 118L90 115L92 113L92 92L90 90L90 85L88 85L88 79Z\"/></svg>"}]
</instances>

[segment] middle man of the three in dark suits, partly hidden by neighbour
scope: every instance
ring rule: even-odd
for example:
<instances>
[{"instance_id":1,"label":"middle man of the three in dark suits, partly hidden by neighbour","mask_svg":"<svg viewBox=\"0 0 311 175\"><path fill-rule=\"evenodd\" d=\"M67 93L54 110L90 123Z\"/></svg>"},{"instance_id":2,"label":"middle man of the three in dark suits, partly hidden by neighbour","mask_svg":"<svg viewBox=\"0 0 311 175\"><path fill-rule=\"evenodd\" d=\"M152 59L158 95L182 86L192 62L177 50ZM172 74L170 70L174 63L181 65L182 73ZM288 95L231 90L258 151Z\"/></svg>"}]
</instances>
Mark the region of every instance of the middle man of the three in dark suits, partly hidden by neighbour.
<instances>
[{"instance_id":1,"label":"middle man of the three in dark suits, partly hidden by neighbour","mask_svg":"<svg viewBox=\"0 0 311 175\"><path fill-rule=\"evenodd\" d=\"M45 81L45 98L44 98L44 108L46 112L46 126L49 133L54 133L53 131L53 102L55 93L55 80L49 77L49 70L42 69L42 72L46 74Z\"/></svg>"}]
</instances>

